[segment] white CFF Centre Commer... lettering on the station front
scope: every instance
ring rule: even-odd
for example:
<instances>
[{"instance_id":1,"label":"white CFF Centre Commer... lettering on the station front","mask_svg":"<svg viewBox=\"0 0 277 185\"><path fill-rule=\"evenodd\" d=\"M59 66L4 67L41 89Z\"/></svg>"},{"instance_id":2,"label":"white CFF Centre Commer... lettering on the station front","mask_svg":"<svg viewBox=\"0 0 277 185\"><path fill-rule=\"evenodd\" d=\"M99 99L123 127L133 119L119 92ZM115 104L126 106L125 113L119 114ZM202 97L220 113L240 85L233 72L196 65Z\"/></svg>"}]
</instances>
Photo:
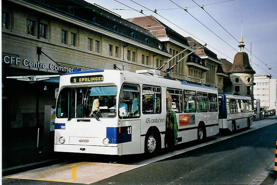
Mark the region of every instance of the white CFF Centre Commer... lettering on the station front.
<instances>
[{"instance_id":1,"label":"white CFF Centre Commer... lettering on the station front","mask_svg":"<svg viewBox=\"0 0 277 185\"><path fill-rule=\"evenodd\" d=\"M73 71L73 68L56 65L53 63L50 63L48 68L46 68L46 64L40 63L39 61L32 62L32 61L29 61L28 59L21 60L19 57L13 57L13 56L4 56L3 62L6 64L15 64L15 65L18 65L19 63L22 62L22 64L26 67L50 69L50 70L62 71L62 72L72 72Z\"/></svg>"}]
</instances>

